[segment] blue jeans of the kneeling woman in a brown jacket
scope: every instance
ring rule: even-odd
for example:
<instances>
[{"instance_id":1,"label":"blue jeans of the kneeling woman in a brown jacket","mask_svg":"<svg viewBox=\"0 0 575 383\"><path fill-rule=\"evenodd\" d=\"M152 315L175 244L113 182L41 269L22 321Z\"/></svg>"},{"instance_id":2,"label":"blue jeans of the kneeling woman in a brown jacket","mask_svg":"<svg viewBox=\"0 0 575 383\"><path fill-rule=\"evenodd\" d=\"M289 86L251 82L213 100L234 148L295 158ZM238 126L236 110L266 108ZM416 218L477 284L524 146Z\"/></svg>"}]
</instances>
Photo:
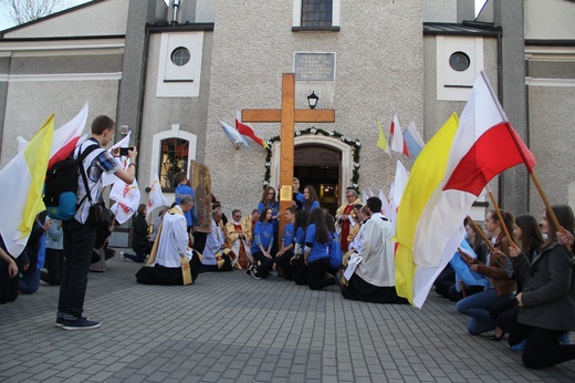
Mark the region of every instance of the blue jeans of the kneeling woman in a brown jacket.
<instances>
[{"instance_id":1,"label":"blue jeans of the kneeling woman in a brown jacket","mask_svg":"<svg viewBox=\"0 0 575 383\"><path fill-rule=\"evenodd\" d=\"M479 335L483 332L495 330L498 323L489 314L489 309L502 301L512 299L513 294L498 296L494 288L478 292L471 297L463 298L457 302L458 312L471 317L468 323L468 332L470 335Z\"/></svg>"}]
</instances>

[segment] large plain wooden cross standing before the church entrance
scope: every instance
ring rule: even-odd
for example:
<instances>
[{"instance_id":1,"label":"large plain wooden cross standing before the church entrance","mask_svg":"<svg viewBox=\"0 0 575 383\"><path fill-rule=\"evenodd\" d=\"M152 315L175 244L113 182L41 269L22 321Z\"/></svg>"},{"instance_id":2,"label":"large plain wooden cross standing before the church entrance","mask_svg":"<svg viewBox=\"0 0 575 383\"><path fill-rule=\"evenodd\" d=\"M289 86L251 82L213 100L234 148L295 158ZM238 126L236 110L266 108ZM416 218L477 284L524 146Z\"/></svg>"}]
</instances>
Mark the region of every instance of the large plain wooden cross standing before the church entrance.
<instances>
[{"instance_id":1,"label":"large plain wooden cross standing before the church entrance","mask_svg":"<svg viewBox=\"0 0 575 383\"><path fill-rule=\"evenodd\" d=\"M335 122L334 110L296 110L295 108L295 74L283 73L282 75L282 108L279 110L242 110L241 120L247 123L281 123L281 158L280 158L280 210L291 206L293 184L293 127L295 123L333 123ZM303 187L303 185L302 185ZM283 192L283 193L282 193ZM280 219L280 237L283 232L285 220Z\"/></svg>"}]
</instances>

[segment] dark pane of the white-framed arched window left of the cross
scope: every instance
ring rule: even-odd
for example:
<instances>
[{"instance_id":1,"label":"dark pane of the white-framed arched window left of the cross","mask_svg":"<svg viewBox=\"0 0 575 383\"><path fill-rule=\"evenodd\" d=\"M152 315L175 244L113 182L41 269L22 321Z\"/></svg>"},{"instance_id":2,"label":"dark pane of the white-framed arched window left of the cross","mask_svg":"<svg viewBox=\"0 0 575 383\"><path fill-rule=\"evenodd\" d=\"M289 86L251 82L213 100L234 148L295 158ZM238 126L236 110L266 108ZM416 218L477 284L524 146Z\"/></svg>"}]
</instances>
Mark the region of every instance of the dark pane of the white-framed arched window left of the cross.
<instances>
[{"instance_id":1,"label":"dark pane of the white-framed arched window left of the cross","mask_svg":"<svg viewBox=\"0 0 575 383\"><path fill-rule=\"evenodd\" d=\"M166 138L161 143L159 156L159 183L166 192L174 192L174 175L177 172L188 174L189 142L181 138Z\"/></svg>"}]
</instances>

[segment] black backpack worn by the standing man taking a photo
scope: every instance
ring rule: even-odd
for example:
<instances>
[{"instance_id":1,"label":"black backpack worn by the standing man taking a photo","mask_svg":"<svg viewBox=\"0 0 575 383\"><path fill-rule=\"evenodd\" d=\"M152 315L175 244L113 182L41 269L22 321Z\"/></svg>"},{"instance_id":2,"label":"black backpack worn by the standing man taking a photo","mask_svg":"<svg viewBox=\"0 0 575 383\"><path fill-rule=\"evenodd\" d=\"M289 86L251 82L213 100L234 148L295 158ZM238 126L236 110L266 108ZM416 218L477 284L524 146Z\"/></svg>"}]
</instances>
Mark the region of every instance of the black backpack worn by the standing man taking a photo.
<instances>
[{"instance_id":1,"label":"black backpack worn by the standing man taking a photo","mask_svg":"<svg viewBox=\"0 0 575 383\"><path fill-rule=\"evenodd\" d=\"M76 214L77 177L82 172L82 162L86 156L100 148L100 145L91 145L74 158L73 154L59 161L46 172L44 182L44 205L51 218L70 220ZM86 190L90 193L90 190Z\"/></svg>"}]
</instances>

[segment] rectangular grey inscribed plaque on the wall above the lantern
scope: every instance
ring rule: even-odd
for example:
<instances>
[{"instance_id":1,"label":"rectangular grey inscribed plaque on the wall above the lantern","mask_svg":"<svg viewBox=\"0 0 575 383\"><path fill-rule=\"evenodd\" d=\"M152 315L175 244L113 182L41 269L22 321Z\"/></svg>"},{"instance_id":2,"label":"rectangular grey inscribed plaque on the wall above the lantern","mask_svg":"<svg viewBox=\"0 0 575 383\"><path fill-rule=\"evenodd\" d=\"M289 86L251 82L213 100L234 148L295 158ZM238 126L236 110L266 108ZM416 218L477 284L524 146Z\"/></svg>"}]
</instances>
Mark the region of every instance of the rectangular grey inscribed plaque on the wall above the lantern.
<instances>
[{"instance_id":1,"label":"rectangular grey inscribed plaque on the wall above the lantern","mask_svg":"<svg viewBox=\"0 0 575 383\"><path fill-rule=\"evenodd\" d=\"M335 53L295 53L296 81L335 81Z\"/></svg>"}]
</instances>

